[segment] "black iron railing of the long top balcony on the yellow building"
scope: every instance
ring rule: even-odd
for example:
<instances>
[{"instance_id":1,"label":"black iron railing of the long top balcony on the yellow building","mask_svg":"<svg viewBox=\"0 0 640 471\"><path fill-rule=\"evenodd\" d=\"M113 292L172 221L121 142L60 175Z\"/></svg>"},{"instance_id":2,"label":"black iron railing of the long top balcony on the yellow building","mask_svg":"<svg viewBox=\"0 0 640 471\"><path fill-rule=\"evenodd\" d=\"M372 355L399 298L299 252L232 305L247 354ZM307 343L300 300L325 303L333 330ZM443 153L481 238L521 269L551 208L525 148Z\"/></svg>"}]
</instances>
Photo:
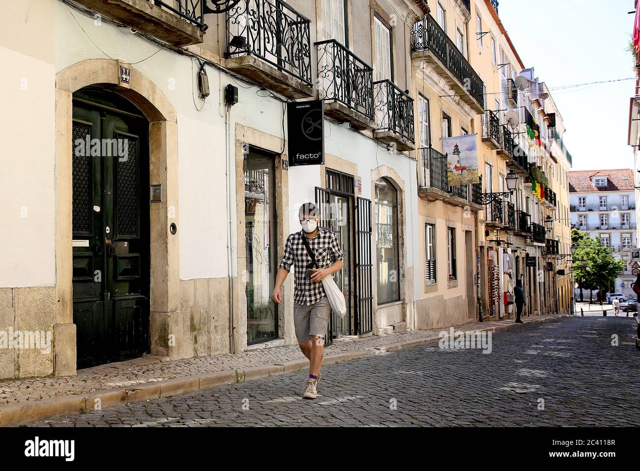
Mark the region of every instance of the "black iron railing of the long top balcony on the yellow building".
<instances>
[{"instance_id":1,"label":"black iron railing of the long top balcony on the yellow building","mask_svg":"<svg viewBox=\"0 0 640 471\"><path fill-rule=\"evenodd\" d=\"M440 28L435 19L427 14L413 24L411 31L411 52L431 51L435 57L458 80L460 86L474 97L484 108L484 83L476 70L465 59L465 56Z\"/></svg>"}]
</instances>

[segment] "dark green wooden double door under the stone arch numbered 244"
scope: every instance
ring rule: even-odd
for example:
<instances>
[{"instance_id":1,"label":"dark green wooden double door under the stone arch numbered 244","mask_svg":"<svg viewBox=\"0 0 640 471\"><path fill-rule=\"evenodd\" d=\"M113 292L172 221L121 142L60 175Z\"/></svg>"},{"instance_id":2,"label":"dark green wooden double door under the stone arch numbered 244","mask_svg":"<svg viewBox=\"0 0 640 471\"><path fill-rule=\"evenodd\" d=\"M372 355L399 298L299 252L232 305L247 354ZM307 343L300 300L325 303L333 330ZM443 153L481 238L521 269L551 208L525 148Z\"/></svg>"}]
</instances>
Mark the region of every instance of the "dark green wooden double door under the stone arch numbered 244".
<instances>
[{"instance_id":1,"label":"dark green wooden double door under the stone arch numbered 244","mask_svg":"<svg viewBox=\"0 0 640 471\"><path fill-rule=\"evenodd\" d=\"M74 94L73 298L77 367L149 349L148 121L120 95Z\"/></svg>"}]
</instances>

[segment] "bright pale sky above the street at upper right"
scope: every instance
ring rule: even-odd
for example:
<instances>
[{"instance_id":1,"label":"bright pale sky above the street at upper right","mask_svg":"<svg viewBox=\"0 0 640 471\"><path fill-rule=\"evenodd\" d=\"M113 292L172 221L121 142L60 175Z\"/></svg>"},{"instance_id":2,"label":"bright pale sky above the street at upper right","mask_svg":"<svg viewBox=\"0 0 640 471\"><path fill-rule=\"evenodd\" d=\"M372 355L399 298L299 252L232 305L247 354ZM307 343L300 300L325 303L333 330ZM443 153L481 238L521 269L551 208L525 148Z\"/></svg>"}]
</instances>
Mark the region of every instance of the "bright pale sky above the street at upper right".
<instances>
[{"instance_id":1,"label":"bright pale sky above the street at upper right","mask_svg":"<svg viewBox=\"0 0 640 471\"><path fill-rule=\"evenodd\" d=\"M552 89L573 170L634 167L627 144L634 80L553 90L634 77L633 10L634 0L499 0L500 21L524 66Z\"/></svg>"}]
</instances>

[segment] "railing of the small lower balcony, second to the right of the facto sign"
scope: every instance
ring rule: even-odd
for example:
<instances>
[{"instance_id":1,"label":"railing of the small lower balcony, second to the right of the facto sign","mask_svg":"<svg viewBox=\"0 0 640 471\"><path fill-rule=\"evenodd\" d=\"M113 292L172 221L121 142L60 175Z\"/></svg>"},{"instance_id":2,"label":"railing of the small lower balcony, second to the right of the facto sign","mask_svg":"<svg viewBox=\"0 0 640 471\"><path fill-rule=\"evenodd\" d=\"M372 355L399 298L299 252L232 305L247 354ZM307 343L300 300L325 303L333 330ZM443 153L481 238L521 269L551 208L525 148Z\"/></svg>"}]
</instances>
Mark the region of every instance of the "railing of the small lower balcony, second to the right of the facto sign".
<instances>
[{"instance_id":1,"label":"railing of the small lower balcony, second to the right of the facto sign","mask_svg":"<svg viewBox=\"0 0 640 471\"><path fill-rule=\"evenodd\" d=\"M392 81L373 83L376 131L391 131L415 142L413 98Z\"/></svg>"}]
</instances>

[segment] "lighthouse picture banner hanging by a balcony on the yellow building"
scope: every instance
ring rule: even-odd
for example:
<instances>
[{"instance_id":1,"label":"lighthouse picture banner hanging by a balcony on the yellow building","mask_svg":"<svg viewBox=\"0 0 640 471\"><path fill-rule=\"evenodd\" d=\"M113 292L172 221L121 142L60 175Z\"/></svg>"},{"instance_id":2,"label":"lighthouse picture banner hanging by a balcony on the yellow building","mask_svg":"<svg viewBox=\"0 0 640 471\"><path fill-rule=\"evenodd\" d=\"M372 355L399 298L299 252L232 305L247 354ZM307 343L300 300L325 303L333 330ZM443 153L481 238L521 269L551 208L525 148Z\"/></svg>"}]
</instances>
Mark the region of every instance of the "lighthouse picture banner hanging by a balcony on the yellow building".
<instances>
[{"instance_id":1,"label":"lighthouse picture banner hanging by a balcony on the yellow building","mask_svg":"<svg viewBox=\"0 0 640 471\"><path fill-rule=\"evenodd\" d=\"M450 186L479 183L477 134L444 138L442 152L447 154Z\"/></svg>"}]
</instances>

